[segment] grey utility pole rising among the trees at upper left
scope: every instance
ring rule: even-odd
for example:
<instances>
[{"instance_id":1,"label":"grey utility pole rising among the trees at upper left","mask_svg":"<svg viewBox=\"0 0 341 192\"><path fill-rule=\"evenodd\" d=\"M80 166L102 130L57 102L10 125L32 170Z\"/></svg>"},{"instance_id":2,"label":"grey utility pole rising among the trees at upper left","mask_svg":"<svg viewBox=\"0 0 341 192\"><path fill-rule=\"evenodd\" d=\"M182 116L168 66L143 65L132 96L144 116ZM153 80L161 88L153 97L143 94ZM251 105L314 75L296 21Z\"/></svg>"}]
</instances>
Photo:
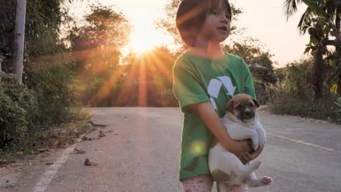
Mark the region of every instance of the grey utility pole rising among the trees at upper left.
<instances>
[{"instance_id":1,"label":"grey utility pole rising among the trees at upper left","mask_svg":"<svg viewBox=\"0 0 341 192\"><path fill-rule=\"evenodd\" d=\"M22 80L23 48L25 38L25 15L26 0L16 0L13 73L16 75L16 78L18 79L19 83L21 83Z\"/></svg>"}]
</instances>

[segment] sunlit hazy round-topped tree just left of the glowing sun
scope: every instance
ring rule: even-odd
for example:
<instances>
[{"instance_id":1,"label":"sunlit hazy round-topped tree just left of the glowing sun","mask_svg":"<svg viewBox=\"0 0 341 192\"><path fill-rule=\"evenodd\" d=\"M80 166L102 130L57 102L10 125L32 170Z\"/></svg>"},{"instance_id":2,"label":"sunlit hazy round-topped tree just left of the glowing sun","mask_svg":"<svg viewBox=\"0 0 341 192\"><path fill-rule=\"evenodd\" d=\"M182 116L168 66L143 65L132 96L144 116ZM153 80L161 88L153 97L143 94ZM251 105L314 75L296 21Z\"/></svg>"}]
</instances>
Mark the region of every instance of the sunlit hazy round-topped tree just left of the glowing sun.
<instances>
[{"instance_id":1,"label":"sunlit hazy round-topped tree just left of the glowing sun","mask_svg":"<svg viewBox=\"0 0 341 192\"><path fill-rule=\"evenodd\" d=\"M90 91L88 99L100 103L122 75L120 49L128 43L131 25L122 12L101 4L91 5L84 20L85 25L75 27L69 35L77 61L75 71L79 86Z\"/></svg>"}]
</instances>

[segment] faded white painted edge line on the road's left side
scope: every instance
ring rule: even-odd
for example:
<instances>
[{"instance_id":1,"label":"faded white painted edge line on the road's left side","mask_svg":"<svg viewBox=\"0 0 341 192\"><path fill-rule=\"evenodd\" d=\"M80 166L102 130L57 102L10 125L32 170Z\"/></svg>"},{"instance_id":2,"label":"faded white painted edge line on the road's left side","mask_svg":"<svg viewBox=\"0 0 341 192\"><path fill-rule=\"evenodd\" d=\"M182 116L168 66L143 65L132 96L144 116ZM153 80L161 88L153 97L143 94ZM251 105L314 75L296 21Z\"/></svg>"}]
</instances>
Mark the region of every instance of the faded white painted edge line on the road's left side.
<instances>
[{"instance_id":1,"label":"faded white painted edge line on the road's left side","mask_svg":"<svg viewBox=\"0 0 341 192\"><path fill-rule=\"evenodd\" d=\"M53 164L44 173L40 181L33 188L32 192L45 192L46 191L48 185L51 183L52 179L58 172L59 168L70 157L70 154L74 148L75 148L75 145L72 145L72 147L68 147L64 150L64 152L58 157L58 159L55 162L53 162Z\"/></svg>"}]
</instances>

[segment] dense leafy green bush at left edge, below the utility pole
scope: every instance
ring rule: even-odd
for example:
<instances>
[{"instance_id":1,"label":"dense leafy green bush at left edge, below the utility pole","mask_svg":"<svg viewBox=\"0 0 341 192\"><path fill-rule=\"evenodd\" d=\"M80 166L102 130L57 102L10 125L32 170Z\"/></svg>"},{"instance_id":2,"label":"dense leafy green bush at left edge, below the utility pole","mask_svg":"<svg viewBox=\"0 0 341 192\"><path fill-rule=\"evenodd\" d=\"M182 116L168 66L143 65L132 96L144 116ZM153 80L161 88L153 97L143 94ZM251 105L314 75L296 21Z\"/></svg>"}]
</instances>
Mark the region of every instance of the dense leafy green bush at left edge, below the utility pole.
<instances>
[{"instance_id":1,"label":"dense leafy green bush at left edge, below the utility pole","mask_svg":"<svg viewBox=\"0 0 341 192\"><path fill-rule=\"evenodd\" d=\"M16 77L0 72L0 148L13 138L23 138L37 114L35 94Z\"/></svg>"}]
</instances>

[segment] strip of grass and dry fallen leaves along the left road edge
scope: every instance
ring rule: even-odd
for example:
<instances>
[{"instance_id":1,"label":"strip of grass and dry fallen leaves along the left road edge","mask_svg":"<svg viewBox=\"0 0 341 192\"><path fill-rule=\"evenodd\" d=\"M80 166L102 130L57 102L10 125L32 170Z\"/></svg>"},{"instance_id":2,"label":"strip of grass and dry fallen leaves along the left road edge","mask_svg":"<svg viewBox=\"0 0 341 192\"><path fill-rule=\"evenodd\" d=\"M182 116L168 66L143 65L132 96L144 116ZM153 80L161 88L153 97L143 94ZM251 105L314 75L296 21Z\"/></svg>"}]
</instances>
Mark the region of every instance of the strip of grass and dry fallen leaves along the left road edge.
<instances>
[{"instance_id":1,"label":"strip of grass and dry fallen leaves along the left road edge","mask_svg":"<svg viewBox=\"0 0 341 192\"><path fill-rule=\"evenodd\" d=\"M9 146L0 149L0 166L31 160L40 155L49 155L80 142L84 135L95 131L98 127L90 121L91 117L91 114L82 112L74 122L32 133L25 137L25 140L11 141Z\"/></svg>"}]
</instances>

